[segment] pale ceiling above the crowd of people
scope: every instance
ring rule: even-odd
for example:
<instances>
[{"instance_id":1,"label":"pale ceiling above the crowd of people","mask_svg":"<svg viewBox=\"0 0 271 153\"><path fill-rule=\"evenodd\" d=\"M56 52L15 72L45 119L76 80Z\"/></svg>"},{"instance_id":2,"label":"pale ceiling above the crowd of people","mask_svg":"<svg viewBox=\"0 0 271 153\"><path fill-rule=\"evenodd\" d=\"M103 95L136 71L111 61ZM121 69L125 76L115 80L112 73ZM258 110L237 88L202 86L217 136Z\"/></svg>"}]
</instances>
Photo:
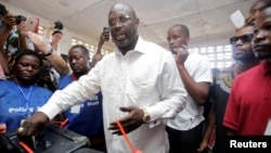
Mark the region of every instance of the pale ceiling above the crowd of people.
<instances>
[{"instance_id":1,"label":"pale ceiling above the crowd of people","mask_svg":"<svg viewBox=\"0 0 271 153\"><path fill-rule=\"evenodd\" d=\"M246 16L255 0L0 0L98 40L107 13L115 2L133 7L140 18L140 35L167 48L167 29L175 24L190 28L190 47L228 44L234 35L230 15L236 10Z\"/></svg>"}]
</instances>

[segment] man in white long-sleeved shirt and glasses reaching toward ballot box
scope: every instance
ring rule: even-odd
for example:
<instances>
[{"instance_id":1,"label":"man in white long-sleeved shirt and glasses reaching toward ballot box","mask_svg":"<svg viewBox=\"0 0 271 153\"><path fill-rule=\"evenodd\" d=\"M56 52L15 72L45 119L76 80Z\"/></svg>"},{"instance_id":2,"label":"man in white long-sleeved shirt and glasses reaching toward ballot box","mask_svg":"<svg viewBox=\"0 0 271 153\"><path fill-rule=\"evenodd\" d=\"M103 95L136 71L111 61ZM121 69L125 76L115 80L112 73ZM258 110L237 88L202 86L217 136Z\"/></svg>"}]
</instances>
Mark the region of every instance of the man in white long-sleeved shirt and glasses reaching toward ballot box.
<instances>
[{"instance_id":1,"label":"man in white long-sleeved shirt and glasses reaching toward ballot box","mask_svg":"<svg viewBox=\"0 0 271 153\"><path fill-rule=\"evenodd\" d=\"M105 55L78 81L55 91L49 102L22 125L18 133L37 133L57 113L101 90L108 153L131 152L119 136L117 119L136 149L165 153L167 137L163 119L172 118L183 110L186 92L171 53L143 40L138 34L139 23L131 7L114 4L108 25L117 46L115 52Z\"/></svg>"}]
</instances>

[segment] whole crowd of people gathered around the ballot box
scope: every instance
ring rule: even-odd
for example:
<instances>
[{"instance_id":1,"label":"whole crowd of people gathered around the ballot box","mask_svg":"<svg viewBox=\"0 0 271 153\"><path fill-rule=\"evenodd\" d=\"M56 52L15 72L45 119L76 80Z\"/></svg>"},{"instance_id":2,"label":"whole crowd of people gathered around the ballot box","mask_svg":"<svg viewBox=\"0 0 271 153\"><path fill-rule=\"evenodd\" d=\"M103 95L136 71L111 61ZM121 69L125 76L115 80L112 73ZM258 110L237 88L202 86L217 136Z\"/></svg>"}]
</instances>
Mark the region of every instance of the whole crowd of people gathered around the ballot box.
<instances>
[{"instance_id":1,"label":"whole crowd of people gathered around the ballot box","mask_svg":"<svg viewBox=\"0 0 271 153\"><path fill-rule=\"evenodd\" d=\"M144 153L223 153L228 136L271 135L270 0L256 1L244 26L233 29L235 63L224 69L189 52L182 23L167 29L168 49L144 40L129 4L109 9L109 31L102 31L91 63L82 44L62 59L55 24L40 37L4 5L0 10L1 133L20 129L30 137L48 123L65 122L64 128L89 138L89 148L108 153L131 152L118 122ZM17 46L10 51L14 33ZM115 49L103 55L111 38Z\"/></svg>"}]
</instances>

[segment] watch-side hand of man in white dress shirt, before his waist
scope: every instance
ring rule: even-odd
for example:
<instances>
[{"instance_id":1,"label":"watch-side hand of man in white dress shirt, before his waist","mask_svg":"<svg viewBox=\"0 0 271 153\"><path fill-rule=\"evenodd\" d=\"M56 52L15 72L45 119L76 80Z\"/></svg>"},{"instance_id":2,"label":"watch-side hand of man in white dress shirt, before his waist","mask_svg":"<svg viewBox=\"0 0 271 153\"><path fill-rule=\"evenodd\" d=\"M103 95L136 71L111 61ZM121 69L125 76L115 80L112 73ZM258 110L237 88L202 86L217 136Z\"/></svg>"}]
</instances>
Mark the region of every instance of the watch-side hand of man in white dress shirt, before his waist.
<instances>
[{"instance_id":1,"label":"watch-side hand of man in white dress shirt, before his waist","mask_svg":"<svg viewBox=\"0 0 271 153\"><path fill-rule=\"evenodd\" d=\"M120 107L119 110L129 113L127 116L119 118L119 123L127 133L142 125L144 115L143 110L136 106ZM111 123L108 129L112 130L113 135L121 135L116 122Z\"/></svg>"}]
</instances>

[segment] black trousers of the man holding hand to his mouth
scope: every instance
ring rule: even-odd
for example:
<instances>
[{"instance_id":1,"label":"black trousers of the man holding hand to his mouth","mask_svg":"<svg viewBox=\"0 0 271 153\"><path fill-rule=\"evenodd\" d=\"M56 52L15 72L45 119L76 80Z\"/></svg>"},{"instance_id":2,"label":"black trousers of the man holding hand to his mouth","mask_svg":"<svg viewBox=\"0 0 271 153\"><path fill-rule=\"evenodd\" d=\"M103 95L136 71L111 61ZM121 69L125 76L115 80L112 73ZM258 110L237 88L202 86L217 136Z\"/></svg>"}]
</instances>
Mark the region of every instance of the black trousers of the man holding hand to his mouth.
<instances>
[{"instance_id":1,"label":"black trousers of the man holding hand to his mouth","mask_svg":"<svg viewBox=\"0 0 271 153\"><path fill-rule=\"evenodd\" d=\"M203 122L190 130L166 127L169 139L169 153L197 153L203 139Z\"/></svg>"}]
</instances>

